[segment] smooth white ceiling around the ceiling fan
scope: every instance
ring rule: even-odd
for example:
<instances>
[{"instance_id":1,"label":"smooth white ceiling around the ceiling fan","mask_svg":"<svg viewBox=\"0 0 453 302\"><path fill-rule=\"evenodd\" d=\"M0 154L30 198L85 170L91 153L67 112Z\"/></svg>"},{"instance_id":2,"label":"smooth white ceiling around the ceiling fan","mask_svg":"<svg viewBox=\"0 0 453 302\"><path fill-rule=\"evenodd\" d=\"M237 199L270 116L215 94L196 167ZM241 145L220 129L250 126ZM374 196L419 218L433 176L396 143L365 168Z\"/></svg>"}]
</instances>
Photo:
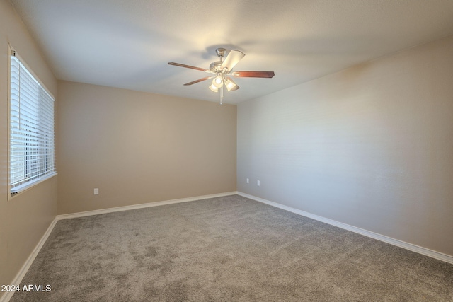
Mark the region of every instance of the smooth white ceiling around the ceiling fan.
<instances>
[{"instance_id":1,"label":"smooth white ceiling around the ceiling fan","mask_svg":"<svg viewBox=\"0 0 453 302\"><path fill-rule=\"evenodd\" d=\"M218 101L215 49L246 54L239 103L453 34L453 0L11 0L57 79ZM453 51L453 50L452 50Z\"/></svg>"}]
</instances>

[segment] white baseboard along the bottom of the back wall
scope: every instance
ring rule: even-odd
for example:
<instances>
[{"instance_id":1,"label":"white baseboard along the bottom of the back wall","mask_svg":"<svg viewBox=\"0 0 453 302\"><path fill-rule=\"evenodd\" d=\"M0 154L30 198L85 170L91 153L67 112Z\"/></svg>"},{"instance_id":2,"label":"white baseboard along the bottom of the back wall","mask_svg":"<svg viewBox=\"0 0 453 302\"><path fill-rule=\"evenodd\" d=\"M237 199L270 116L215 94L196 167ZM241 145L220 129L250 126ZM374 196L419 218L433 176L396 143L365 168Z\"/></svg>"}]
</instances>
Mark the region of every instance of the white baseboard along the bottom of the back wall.
<instances>
[{"instance_id":1,"label":"white baseboard along the bottom of the back wall","mask_svg":"<svg viewBox=\"0 0 453 302\"><path fill-rule=\"evenodd\" d=\"M165 200L163 202L149 202L147 204L134 204L132 206L125 206L125 207L115 207L115 208L99 209L99 210L93 210L93 211L83 211L83 212L71 213L71 214L62 214L62 215L57 216L57 220L113 213L115 211L128 211L128 210L134 210L134 209L143 209L143 208L149 208L149 207L164 206L166 204L178 204L180 202L193 202L195 200L215 198L215 197L224 197L224 196L229 196L229 195L234 195L234 194L237 194L237 192L234 191L234 192L226 192L226 193L219 193L219 194L202 195L202 196L197 196L197 197Z\"/></svg>"}]
</instances>

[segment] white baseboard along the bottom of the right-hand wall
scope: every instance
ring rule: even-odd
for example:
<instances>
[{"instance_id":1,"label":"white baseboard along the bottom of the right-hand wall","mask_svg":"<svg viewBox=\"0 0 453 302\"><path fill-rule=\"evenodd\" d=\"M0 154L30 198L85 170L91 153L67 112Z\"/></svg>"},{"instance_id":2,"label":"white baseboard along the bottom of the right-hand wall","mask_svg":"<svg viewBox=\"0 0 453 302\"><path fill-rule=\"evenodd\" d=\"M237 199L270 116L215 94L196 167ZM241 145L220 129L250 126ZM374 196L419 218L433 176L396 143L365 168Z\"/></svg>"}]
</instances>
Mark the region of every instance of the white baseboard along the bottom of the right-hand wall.
<instances>
[{"instance_id":1,"label":"white baseboard along the bottom of the right-hand wall","mask_svg":"<svg viewBox=\"0 0 453 302\"><path fill-rule=\"evenodd\" d=\"M453 264L453 256L443 254L442 252L436 252L435 250L430 250L428 248L423 248L423 247L418 246L418 245L413 245L411 243L406 243L406 242L401 241L401 240L397 240L397 239L394 239L394 238L390 238L390 237L387 237L387 236L380 235L378 233L374 233L374 232L371 232L371 231L364 230L363 228L357 228L355 226L350 226L349 224L346 224L346 223L342 223L342 222L338 222L338 221L335 221L335 220L332 220L332 219L324 218L322 216L311 214L309 212L302 211L302 210L299 210L299 209L294 209L292 207L287 207L284 204L278 204L277 202L271 202L269 200L266 200L266 199L263 199L263 198L260 198L260 197L256 197L256 196L253 196L253 195L249 195L249 194L246 194L246 193L243 193L243 192L237 192L237 194L242 196L242 197L247 197L249 199L256 200L257 202L263 202L263 204L269 204L270 206L277 207L277 208L280 208L280 209L284 209L284 210L290 211L290 212L292 212L294 214L299 214L301 216L306 216L306 217L309 217L311 219L314 219L314 220L317 220L317 221L321 221L323 223L331 224L332 226L337 226L338 228L343 228L345 230L352 231L354 233L359 233L359 234L361 234L363 236L367 236L367 237L374 238L374 239L377 239L377 240L380 240L380 241L384 241L385 243L390 243L391 245L396 245L396 246L398 246L400 248L405 248L406 250L411 250L413 252L418 252L419 254L422 254L422 255L425 255L425 256L428 256L428 257L435 258L437 260L442 260L442 261L445 261L445 262Z\"/></svg>"}]
</instances>

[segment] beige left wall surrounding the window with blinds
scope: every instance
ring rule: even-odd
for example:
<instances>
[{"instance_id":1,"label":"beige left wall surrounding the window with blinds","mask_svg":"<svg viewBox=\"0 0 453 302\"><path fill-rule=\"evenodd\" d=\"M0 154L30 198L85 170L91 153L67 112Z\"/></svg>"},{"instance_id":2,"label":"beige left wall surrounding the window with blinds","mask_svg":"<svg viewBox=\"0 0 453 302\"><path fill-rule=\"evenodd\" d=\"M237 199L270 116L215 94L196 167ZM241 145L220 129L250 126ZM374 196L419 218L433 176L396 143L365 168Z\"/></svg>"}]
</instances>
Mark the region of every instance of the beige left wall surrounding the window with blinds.
<instances>
[{"instance_id":1,"label":"beige left wall surrounding the window with blinds","mask_svg":"<svg viewBox=\"0 0 453 302\"><path fill-rule=\"evenodd\" d=\"M28 30L9 1L0 0L0 285L11 284L57 214L57 177L8 201L8 42L57 95L57 81Z\"/></svg>"}]
</instances>

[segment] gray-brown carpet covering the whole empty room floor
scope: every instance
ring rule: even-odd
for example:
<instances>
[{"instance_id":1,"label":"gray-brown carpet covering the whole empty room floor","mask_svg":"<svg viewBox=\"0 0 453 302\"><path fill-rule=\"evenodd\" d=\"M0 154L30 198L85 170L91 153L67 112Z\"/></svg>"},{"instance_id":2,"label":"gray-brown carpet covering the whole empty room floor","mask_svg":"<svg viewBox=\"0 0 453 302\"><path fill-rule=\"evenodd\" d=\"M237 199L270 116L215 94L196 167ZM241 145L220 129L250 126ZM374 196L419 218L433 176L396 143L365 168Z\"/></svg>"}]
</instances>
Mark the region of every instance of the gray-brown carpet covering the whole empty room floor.
<instances>
[{"instance_id":1,"label":"gray-brown carpet covering the whole empty room floor","mask_svg":"<svg viewBox=\"0 0 453 302\"><path fill-rule=\"evenodd\" d=\"M58 221L11 301L453 301L453 265L237 195Z\"/></svg>"}]
</instances>

